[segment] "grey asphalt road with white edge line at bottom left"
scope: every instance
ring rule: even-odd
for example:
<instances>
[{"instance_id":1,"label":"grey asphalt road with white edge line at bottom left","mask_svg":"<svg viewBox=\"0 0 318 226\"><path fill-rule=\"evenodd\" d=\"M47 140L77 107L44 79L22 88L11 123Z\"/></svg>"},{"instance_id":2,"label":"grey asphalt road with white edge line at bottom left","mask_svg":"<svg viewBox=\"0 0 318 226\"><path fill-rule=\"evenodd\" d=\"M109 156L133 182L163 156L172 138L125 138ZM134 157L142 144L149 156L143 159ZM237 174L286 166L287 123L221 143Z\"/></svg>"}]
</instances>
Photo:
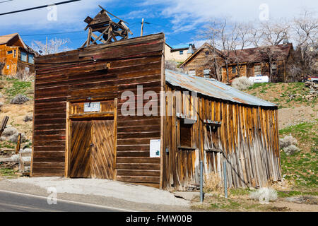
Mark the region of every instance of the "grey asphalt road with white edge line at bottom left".
<instances>
[{"instance_id":1,"label":"grey asphalt road with white edge line at bottom left","mask_svg":"<svg viewBox=\"0 0 318 226\"><path fill-rule=\"evenodd\" d=\"M121 212L118 208L61 201L49 205L47 197L0 191L0 212Z\"/></svg>"}]
</instances>

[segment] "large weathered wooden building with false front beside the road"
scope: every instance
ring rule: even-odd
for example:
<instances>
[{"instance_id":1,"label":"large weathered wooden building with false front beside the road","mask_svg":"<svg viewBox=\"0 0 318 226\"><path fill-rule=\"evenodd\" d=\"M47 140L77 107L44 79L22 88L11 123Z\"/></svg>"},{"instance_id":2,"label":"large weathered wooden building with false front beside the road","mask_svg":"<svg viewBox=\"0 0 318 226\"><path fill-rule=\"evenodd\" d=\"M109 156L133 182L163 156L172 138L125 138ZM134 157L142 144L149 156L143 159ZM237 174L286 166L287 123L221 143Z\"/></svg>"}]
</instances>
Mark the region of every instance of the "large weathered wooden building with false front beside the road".
<instances>
[{"instance_id":1,"label":"large weathered wooden building with false front beside the road","mask_svg":"<svg viewBox=\"0 0 318 226\"><path fill-rule=\"evenodd\" d=\"M165 70L164 49L160 33L37 57L31 176L184 190L227 159L230 186L280 179L277 106Z\"/></svg>"}]
</instances>

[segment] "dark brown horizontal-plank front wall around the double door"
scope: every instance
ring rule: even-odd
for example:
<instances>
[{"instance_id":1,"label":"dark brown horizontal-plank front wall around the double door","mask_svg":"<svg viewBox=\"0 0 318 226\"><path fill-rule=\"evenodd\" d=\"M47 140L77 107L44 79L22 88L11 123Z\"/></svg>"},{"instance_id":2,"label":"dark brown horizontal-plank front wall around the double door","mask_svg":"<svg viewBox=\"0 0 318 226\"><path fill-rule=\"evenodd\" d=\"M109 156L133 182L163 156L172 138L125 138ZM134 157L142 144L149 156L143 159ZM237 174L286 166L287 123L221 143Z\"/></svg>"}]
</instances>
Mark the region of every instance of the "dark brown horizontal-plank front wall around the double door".
<instances>
[{"instance_id":1,"label":"dark brown horizontal-plank front wall around the double door","mask_svg":"<svg viewBox=\"0 0 318 226\"><path fill-rule=\"evenodd\" d=\"M64 175L66 102L118 98L117 179L159 187L160 158L149 148L160 139L160 116L126 117L120 109L122 92L136 95L137 85L160 93L164 43L161 33L35 59L33 177Z\"/></svg>"}]
</instances>

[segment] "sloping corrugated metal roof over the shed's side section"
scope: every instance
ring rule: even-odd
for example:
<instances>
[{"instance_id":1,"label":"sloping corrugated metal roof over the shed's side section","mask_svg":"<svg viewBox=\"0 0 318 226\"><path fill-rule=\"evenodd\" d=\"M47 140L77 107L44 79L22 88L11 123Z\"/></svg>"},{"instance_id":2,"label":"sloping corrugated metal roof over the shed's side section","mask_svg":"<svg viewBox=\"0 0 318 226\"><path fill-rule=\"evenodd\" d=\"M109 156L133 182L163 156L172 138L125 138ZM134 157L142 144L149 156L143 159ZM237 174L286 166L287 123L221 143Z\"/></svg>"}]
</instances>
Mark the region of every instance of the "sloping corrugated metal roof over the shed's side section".
<instances>
[{"instance_id":1,"label":"sloping corrugated metal roof over the shed's side section","mask_svg":"<svg viewBox=\"0 0 318 226\"><path fill-rule=\"evenodd\" d=\"M277 107L277 105L261 100L240 90L225 85L215 79L201 78L198 76L189 76L177 71L165 70L165 81L173 86L194 91L202 95L214 97L220 100L229 100L239 104Z\"/></svg>"}]
</instances>

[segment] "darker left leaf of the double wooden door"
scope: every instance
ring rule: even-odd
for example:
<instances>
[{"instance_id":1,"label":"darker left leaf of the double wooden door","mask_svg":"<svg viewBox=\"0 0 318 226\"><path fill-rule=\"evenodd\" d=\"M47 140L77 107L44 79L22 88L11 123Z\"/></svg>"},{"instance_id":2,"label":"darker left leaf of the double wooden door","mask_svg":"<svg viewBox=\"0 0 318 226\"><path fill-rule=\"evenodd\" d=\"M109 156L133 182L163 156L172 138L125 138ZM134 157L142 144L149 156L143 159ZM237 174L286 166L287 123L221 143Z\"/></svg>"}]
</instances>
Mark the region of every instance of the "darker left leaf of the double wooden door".
<instances>
[{"instance_id":1,"label":"darker left leaf of the double wooden door","mask_svg":"<svg viewBox=\"0 0 318 226\"><path fill-rule=\"evenodd\" d=\"M90 178L91 121L71 121L70 177Z\"/></svg>"}]
</instances>

